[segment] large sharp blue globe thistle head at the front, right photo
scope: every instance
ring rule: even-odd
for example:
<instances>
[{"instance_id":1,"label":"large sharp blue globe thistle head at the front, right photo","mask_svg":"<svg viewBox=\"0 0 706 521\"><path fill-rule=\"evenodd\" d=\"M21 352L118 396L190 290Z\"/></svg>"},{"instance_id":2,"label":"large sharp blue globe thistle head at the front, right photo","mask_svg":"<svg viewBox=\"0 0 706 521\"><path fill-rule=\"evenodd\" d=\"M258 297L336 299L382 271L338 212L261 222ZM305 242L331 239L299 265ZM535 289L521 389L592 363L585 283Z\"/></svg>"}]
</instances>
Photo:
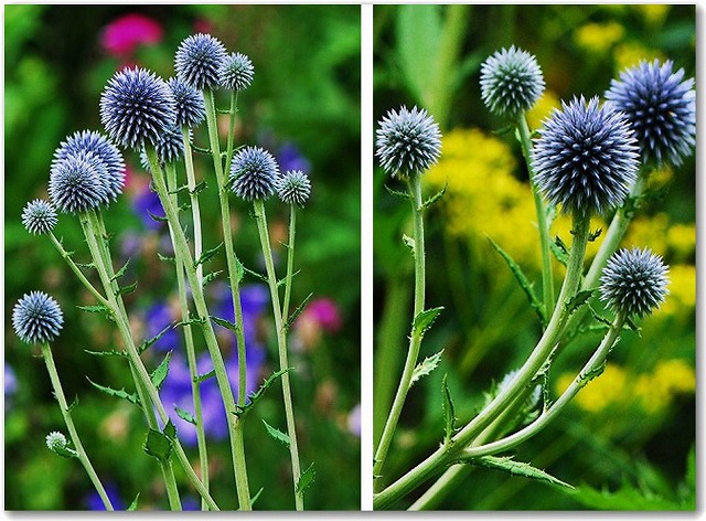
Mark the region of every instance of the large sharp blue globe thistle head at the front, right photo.
<instances>
[{"instance_id":1,"label":"large sharp blue globe thistle head at the front, right photo","mask_svg":"<svg viewBox=\"0 0 706 521\"><path fill-rule=\"evenodd\" d=\"M535 181L564 212L603 214L622 204L635 181L639 148L612 107L581 96L544 121L533 150Z\"/></svg>"}]
</instances>

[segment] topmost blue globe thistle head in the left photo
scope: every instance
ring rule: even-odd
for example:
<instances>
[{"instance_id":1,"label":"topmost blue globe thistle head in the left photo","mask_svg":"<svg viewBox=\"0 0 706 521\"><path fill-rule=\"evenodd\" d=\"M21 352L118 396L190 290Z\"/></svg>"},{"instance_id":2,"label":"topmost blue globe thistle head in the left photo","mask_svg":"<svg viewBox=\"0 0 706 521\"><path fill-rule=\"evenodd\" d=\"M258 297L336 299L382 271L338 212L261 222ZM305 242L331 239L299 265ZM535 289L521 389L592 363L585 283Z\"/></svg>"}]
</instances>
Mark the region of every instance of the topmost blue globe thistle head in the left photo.
<instances>
[{"instance_id":1,"label":"topmost blue globe thistle head in the left photo","mask_svg":"<svg viewBox=\"0 0 706 521\"><path fill-rule=\"evenodd\" d=\"M194 88L218 87L218 70L225 61L223 43L211 34L192 34L179 44L174 55L176 77Z\"/></svg>"}]
</instances>

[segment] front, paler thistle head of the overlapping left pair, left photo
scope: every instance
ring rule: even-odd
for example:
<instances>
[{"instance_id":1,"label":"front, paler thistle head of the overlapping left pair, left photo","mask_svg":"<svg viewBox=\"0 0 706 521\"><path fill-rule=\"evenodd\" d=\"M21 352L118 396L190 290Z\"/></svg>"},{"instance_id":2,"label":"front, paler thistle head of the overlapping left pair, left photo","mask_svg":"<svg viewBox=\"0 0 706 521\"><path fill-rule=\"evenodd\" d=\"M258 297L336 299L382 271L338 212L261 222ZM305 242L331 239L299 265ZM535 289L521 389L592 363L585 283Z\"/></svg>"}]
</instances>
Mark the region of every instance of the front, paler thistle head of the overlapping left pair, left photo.
<instances>
[{"instance_id":1,"label":"front, paler thistle head of the overlapping left pair, left photo","mask_svg":"<svg viewBox=\"0 0 706 521\"><path fill-rule=\"evenodd\" d=\"M93 152L69 155L52 166L49 196L64 213L86 212L109 200L100 182L106 176L105 163Z\"/></svg>"}]
</instances>

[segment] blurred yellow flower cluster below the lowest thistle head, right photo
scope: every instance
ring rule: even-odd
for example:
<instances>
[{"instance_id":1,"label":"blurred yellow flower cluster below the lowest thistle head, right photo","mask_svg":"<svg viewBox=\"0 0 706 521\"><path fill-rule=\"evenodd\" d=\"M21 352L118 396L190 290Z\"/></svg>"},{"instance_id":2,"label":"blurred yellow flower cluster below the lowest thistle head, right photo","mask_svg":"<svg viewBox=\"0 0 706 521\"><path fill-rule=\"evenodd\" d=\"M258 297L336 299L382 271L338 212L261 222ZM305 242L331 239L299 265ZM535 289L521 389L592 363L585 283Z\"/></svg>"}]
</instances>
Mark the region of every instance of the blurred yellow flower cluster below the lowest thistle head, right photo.
<instances>
[{"instance_id":1,"label":"blurred yellow flower cluster below the lowest thistle head, right photo","mask_svg":"<svg viewBox=\"0 0 706 521\"><path fill-rule=\"evenodd\" d=\"M557 393L566 390L574 378L569 373L559 376ZM653 371L638 375L609 363L600 376L581 389L574 403L589 413L638 405L648 414L657 414L666 410L675 396L693 394L695 389L694 368L681 359L665 360L657 363Z\"/></svg>"}]
</instances>

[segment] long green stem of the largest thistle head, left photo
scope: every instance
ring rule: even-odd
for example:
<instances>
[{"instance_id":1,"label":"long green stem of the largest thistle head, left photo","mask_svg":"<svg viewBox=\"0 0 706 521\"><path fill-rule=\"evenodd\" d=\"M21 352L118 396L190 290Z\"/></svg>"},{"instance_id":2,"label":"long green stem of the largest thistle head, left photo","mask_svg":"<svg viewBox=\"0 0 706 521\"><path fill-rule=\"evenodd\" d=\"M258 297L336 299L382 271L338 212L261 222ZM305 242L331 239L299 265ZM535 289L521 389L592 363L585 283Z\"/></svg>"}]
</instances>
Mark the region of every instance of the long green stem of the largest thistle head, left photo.
<instances>
[{"instance_id":1,"label":"long green stem of the largest thistle head, left photo","mask_svg":"<svg viewBox=\"0 0 706 521\"><path fill-rule=\"evenodd\" d=\"M196 315L200 319L201 327L203 329L203 336L206 341L208 353L213 362L213 369L223 398L223 404L228 417L228 433L231 437L231 453L233 456L233 467L235 474L236 492L238 496L238 504L240 510L252 510L250 507L250 492L247 480L247 468L245 465L245 448L243 445L243 430L239 428L239 418L234 414L236 411L235 400L233 397L233 390L231 389L231 382L228 381L228 374L223 361L223 355L218 348L213 323L208 315L208 308L206 307L206 300L203 294L203 287L199 284L196 278L196 269L191 262L191 252L189 251L189 243L184 231L179 223L179 215L176 208L172 204L171 199L164 183L161 168L159 166L159 159L153 147L146 147L147 157L150 162L150 170L152 173L152 181L160 202L167 213L168 222L172 225L174 232L174 254L180 255L181 258L186 259L183 263L184 270L186 273L186 280L191 286L194 307L196 308ZM159 398L159 397L158 397Z\"/></svg>"}]
</instances>

